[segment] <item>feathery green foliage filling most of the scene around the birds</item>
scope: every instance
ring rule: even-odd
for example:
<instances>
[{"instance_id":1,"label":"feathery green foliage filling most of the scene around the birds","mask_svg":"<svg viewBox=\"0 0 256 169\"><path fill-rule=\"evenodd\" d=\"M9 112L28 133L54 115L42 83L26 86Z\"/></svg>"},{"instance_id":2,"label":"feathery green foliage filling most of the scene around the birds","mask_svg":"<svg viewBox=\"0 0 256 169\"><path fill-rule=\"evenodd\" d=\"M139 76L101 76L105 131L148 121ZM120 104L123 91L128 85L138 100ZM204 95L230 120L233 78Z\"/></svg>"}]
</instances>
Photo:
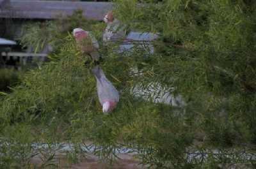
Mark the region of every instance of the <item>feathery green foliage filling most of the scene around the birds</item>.
<instances>
[{"instance_id":1,"label":"feathery green foliage filling most of the scene around the birds","mask_svg":"<svg viewBox=\"0 0 256 169\"><path fill-rule=\"evenodd\" d=\"M140 48L132 54L116 54L116 46L100 48L104 56L100 66L121 94L116 110L102 114L93 65L84 66L88 57L77 51L70 34L74 27L82 27L92 31L101 44L104 25L80 22L79 12L63 18L68 22L47 22L58 30L52 29L56 36L45 40L54 44L52 61L29 71L22 84L1 101L0 140L19 140L20 147L13 144L8 151L9 144L1 144L1 152L7 155L0 166L16 165L10 154L22 151L18 161L24 167L33 152L45 154L46 167L58 150L54 145L61 142L77 146L69 158L79 161L76 155L84 153L79 146L90 141L100 158L112 161L117 149L128 147L148 168L252 168L255 159L250 157L255 157L256 143L255 3L115 3L115 15L130 29L159 33L152 55ZM39 34L40 29L33 33ZM34 44L44 42L32 34L27 36L34 38ZM180 94L186 105L172 107L132 96L132 87L141 85L147 90L152 82L174 96ZM47 143L52 151L31 151L32 142ZM193 158L193 154L207 154L208 158Z\"/></svg>"}]
</instances>

